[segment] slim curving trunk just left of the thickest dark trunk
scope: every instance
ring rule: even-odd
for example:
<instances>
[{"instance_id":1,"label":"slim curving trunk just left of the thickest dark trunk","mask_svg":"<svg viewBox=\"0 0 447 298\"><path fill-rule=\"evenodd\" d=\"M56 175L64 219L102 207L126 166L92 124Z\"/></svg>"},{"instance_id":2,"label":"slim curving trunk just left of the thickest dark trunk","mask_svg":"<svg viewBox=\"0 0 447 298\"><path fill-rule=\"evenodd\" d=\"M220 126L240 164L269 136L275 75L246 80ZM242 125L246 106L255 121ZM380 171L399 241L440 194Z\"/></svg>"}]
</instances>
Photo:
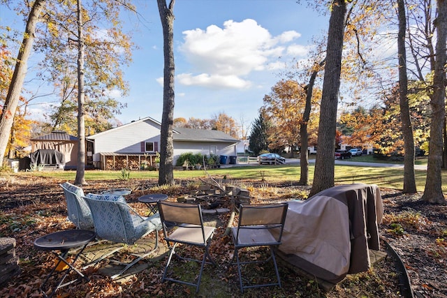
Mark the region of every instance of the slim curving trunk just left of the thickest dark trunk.
<instances>
[{"instance_id":1,"label":"slim curving trunk just left of the thickest dark trunk","mask_svg":"<svg viewBox=\"0 0 447 298\"><path fill-rule=\"evenodd\" d=\"M309 124L310 110L312 108L312 93L314 91L314 83L316 75L320 70L321 66L324 65L326 59L315 66L314 71L309 79L309 84L305 87L306 90L306 105L305 112L302 114L302 124L300 126L300 137L301 137L301 150L300 150L300 185L309 185L309 153L307 152L307 147L309 147L309 133L307 133L307 124Z\"/></svg>"}]
</instances>

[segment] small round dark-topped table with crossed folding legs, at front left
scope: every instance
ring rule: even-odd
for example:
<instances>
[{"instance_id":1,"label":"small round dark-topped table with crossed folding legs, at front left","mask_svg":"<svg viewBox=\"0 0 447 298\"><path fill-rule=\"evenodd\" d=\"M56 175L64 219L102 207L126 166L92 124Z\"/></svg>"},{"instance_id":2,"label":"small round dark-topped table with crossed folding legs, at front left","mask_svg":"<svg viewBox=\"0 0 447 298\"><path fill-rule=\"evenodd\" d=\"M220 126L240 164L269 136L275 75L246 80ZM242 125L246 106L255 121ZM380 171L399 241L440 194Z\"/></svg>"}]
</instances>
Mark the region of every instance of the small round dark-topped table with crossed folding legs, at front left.
<instances>
[{"instance_id":1,"label":"small round dark-topped table with crossed folding legs, at front left","mask_svg":"<svg viewBox=\"0 0 447 298\"><path fill-rule=\"evenodd\" d=\"M54 293L60 288L65 287L66 285L71 285L75 281L78 281L79 278L76 278L73 281L69 281L64 283L64 279L70 273L71 270L75 271L80 278L85 279L85 281L89 281L89 278L82 274L78 269L74 267L76 260L78 260L82 251L84 251L87 244L90 241L95 239L96 232L90 230L66 230L61 232L54 232L51 234L47 234L43 237L40 237L34 241L34 248L40 251L52 251L54 255L57 257L57 262L54 262L54 267L48 274L45 281L41 284L41 291L45 297L52 297ZM80 248L78 253L74 256L73 260L68 260L68 251L71 248ZM58 251L60 253L58 253ZM61 278L57 281L57 286L54 288L50 294L47 296L45 294L45 284L51 276L57 276L61 274Z\"/></svg>"}]
</instances>

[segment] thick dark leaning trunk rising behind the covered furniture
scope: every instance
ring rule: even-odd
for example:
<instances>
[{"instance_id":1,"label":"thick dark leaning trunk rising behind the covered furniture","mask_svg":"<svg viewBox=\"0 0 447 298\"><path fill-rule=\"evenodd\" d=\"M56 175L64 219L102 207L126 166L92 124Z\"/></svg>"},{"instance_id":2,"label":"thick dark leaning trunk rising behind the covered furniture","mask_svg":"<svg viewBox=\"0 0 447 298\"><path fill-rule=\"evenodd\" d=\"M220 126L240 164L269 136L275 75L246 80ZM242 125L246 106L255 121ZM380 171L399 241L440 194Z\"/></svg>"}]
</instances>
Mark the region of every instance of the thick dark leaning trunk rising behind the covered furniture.
<instances>
[{"instance_id":1,"label":"thick dark leaning trunk rising behind the covered furniture","mask_svg":"<svg viewBox=\"0 0 447 298\"><path fill-rule=\"evenodd\" d=\"M329 20L328 47L321 97L320 122L318 126L318 151L316 151L314 182L310 195L334 186L334 151L337 124L337 105L342 70L344 19L346 2L332 2Z\"/></svg>"}]
</instances>

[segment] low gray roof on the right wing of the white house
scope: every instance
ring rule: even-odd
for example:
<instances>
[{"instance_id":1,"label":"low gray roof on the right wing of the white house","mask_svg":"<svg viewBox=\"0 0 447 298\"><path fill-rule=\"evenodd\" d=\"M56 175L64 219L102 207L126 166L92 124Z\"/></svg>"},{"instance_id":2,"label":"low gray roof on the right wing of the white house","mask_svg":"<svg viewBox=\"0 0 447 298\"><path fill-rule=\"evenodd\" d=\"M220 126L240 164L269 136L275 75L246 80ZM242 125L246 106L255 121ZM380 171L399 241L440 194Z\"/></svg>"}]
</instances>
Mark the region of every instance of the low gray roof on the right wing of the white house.
<instances>
[{"instance_id":1,"label":"low gray roof on the right wing of the white house","mask_svg":"<svg viewBox=\"0 0 447 298\"><path fill-rule=\"evenodd\" d=\"M173 140L178 142L239 142L236 138L222 131L183 127L174 128Z\"/></svg>"}]
</instances>

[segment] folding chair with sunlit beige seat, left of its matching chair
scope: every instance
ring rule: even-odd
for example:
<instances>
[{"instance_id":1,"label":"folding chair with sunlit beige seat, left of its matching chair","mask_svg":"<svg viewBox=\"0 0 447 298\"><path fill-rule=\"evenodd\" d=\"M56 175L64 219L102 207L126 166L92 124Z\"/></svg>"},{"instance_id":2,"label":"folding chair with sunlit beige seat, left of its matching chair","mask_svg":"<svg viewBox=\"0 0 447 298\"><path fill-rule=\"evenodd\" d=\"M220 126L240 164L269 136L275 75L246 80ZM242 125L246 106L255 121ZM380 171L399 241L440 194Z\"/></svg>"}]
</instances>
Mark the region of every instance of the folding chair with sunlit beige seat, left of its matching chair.
<instances>
[{"instance_id":1,"label":"folding chair with sunlit beige seat, left of its matching chair","mask_svg":"<svg viewBox=\"0 0 447 298\"><path fill-rule=\"evenodd\" d=\"M166 201L159 201L157 204L159 207L161 223L163 224L165 240L170 248L168 262L166 263L166 267L163 272L162 282L173 281L186 285L193 285L196 286L196 292L198 292L205 263L216 265L209 253L214 228L203 225L200 204L186 204ZM171 243L173 243L173 245ZM180 256L179 253L175 252L175 247L177 244L185 244L203 248L203 259L198 260ZM173 255L176 255L180 260L189 260L201 263L197 283L167 277L168 267ZM208 262L207 259L210 260L210 262Z\"/></svg>"}]
</instances>

